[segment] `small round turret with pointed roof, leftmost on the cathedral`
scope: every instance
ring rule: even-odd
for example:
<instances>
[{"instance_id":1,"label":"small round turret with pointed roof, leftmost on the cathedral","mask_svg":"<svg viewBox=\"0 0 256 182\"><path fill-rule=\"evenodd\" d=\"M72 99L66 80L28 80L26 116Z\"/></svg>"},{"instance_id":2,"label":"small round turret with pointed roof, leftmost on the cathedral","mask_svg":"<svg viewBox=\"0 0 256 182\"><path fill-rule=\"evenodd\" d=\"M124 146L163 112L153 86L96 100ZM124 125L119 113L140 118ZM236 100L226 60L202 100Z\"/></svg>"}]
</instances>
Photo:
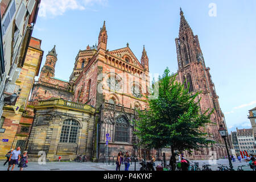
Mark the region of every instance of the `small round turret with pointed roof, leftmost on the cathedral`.
<instances>
[{"instance_id":1,"label":"small round turret with pointed roof, leftmost on the cathedral","mask_svg":"<svg viewBox=\"0 0 256 182\"><path fill-rule=\"evenodd\" d=\"M43 80L44 78L54 77L55 76L55 65L57 62L57 53L55 46L51 51L48 52L46 56L46 63L44 64L42 71L40 73L39 80Z\"/></svg>"}]
</instances>

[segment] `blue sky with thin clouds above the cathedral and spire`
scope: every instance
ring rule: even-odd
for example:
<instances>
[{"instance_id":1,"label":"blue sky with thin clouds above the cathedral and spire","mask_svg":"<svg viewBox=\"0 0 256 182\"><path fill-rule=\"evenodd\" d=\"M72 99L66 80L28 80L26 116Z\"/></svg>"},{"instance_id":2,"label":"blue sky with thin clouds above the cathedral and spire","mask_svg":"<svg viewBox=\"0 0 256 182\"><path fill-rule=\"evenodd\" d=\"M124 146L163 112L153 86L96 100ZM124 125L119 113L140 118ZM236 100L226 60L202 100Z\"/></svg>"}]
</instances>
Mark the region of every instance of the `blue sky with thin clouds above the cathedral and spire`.
<instances>
[{"instance_id":1,"label":"blue sky with thin clouds above the cathedral and spire","mask_svg":"<svg viewBox=\"0 0 256 182\"><path fill-rule=\"evenodd\" d=\"M216 16L208 14L210 3ZM180 7L199 36L229 131L250 128L248 110L256 106L254 0L42 0L32 36L42 39L43 64L56 44L55 77L69 80L79 49L98 41L106 20L109 50L129 43L140 60L145 45L150 72L162 75L166 67L177 71Z\"/></svg>"}]
</instances>

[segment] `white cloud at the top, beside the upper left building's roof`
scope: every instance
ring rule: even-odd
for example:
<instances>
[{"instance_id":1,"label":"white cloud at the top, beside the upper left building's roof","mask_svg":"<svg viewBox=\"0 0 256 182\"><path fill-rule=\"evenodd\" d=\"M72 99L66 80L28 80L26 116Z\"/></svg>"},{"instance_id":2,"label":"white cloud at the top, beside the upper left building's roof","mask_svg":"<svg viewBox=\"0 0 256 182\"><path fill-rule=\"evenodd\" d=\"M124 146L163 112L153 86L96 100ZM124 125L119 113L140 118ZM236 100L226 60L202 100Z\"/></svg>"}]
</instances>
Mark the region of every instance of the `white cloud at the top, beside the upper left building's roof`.
<instances>
[{"instance_id":1,"label":"white cloud at the top, beside the upper left building's roof","mask_svg":"<svg viewBox=\"0 0 256 182\"><path fill-rule=\"evenodd\" d=\"M108 0L42 0L40 3L39 16L63 15L67 10L85 10L94 4L106 5Z\"/></svg>"}]
</instances>

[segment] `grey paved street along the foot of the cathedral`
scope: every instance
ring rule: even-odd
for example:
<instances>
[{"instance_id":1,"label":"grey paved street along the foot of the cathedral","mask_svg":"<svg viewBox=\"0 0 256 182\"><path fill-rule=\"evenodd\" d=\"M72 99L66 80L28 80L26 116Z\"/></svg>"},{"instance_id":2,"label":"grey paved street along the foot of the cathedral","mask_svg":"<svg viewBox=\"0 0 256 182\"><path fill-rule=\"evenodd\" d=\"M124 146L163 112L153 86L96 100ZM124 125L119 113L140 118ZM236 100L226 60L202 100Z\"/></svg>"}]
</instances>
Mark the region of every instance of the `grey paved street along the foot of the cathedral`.
<instances>
[{"instance_id":1,"label":"grey paved street along the foot of the cathedral","mask_svg":"<svg viewBox=\"0 0 256 182\"><path fill-rule=\"evenodd\" d=\"M202 168L202 165L204 163L209 164L208 160L194 160L192 162L199 162L199 167ZM7 170L7 164L6 166L3 166L3 161L0 162L0 171L6 171ZM156 166L161 162L156 162ZM169 162L167 162L169 163ZM228 159L219 159L217 160L217 164L226 164L229 166ZM210 166L210 168L213 171L217 170L218 165L213 164ZM249 163L246 162L233 162L234 169L237 171L238 166L244 165L243 169L245 171L252 171L249 167ZM136 169L139 171L139 168L141 165L139 163L136 163ZM18 171L19 168L15 166L14 171ZM113 166L112 160L110 161L110 165L107 165L106 163L92 163L92 162L86 162L86 163L77 163L77 162L47 162L45 165L40 165L38 162L28 162L28 167L23 169L24 171L114 171L115 170L115 164ZM125 165L121 165L121 171L125 170ZM134 171L134 163L130 166L130 171Z\"/></svg>"}]
</instances>

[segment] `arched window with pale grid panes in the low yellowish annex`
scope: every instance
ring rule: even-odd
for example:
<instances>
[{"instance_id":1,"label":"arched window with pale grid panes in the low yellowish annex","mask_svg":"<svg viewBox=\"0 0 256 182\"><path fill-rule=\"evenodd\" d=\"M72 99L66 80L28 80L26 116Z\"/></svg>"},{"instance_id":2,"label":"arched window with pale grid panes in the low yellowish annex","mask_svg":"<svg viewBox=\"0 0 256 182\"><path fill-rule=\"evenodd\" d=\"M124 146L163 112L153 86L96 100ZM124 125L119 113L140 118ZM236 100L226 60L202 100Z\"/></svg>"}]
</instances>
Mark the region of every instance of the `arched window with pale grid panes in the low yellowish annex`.
<instances>
[{"instance_id":1,"label":"arched window with pale grid panes in the low yellowish annex","mask_svg":"<svg viewBox=\"0 0 256 182\"><path fill-rule=\"evenodd\" d=\"M79 123L74 119L67 119L63 122L60 133L60 143L77 143L79 136Z\"/></svg>"}]
</instances>

